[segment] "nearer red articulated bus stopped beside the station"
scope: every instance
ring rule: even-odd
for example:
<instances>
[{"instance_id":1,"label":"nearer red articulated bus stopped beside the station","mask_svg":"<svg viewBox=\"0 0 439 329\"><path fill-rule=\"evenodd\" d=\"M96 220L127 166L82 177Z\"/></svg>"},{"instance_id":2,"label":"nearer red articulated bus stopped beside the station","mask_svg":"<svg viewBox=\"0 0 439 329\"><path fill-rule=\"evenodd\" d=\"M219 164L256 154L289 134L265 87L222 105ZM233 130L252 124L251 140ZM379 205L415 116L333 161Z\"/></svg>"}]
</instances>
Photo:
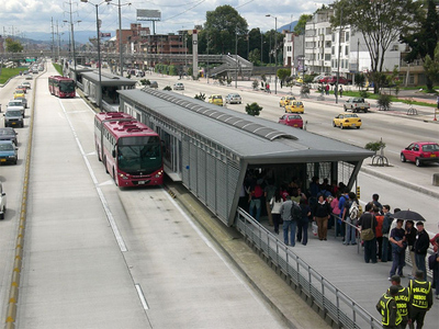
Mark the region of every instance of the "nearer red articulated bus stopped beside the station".
<instances>
[{"instance_id":1,"label":"nearer red articulated bus stopped beside the station","mask_svg":"<svg viewBox=\"0 0 439 329\"><path fill-rule=\"evenodd\" d=\"M161 185L164 159L160 137L122 112L94 116L98 158L119 186Z\"/></svg>"}]
</instances>

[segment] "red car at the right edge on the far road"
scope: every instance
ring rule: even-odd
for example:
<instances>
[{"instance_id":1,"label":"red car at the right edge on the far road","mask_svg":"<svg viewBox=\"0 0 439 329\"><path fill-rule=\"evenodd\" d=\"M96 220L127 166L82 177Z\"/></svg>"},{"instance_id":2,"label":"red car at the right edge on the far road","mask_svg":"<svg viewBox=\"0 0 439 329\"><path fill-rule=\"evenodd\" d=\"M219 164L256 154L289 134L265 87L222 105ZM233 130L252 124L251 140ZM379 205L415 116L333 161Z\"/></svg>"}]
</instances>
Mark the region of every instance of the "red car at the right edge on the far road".
<instances>
[{"instance_id":1,"label":"red car at the right edge on the far road","mask_svg":"<svg viewBox=\"0 0 439 329\"><path fill-rule=\"evenodd\" d=\"M412 143L401 151L401 161L412 161L417 167L427 162L439 163L439 145L432 141Z\"/></svg>"}]
</instances>

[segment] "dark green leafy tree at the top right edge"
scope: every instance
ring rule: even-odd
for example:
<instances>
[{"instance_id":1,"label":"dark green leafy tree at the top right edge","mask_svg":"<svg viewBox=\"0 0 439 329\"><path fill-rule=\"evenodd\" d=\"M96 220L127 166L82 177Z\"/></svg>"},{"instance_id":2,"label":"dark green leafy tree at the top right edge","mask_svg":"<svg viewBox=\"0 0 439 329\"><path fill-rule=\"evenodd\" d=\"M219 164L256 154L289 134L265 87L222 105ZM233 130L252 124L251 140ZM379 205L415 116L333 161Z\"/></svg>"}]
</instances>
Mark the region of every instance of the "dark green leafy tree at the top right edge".
<instances>
[{"instance_id":1,"label":"dark green leafy tree at the top right edge","mask_svg":"<svg viewBox=\"0 0 439 329\"><path fill-rule=\"evenodd\" d=\"M420 58L426 60L427 56L435 58L435 49L439 42L439 14L436 10L436 3L439 1L426 0L427 11L420 9L416 15L416 22L412 26L406 26L402 31L401 41L410 47L410 52L404 57L407 63ZM427 90L432 91L432 83L427 73Z\"/></svg>"}]
</instances>

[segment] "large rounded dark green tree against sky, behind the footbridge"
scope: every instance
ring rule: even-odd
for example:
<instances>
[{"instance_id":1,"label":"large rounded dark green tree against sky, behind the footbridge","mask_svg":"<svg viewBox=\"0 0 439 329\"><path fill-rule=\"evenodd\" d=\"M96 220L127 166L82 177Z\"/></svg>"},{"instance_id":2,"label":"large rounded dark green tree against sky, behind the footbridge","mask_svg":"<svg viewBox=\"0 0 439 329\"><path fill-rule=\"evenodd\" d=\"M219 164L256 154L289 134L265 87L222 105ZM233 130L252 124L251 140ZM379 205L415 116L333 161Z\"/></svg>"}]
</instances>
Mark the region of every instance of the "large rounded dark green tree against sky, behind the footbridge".
<instances>
[{"instance_id":1,"label":"large rounded dark green tree against sky, behind the footbridge","mask_svg":"<svg viewBox=\"0 0 439 329\"><path fill-rule=\"evenodd\" d=\"M210 53L235 54L236 35L246 35L248 24L232 5L225 4L206 12L205 30Z\"/></svg>"}]
</instances>

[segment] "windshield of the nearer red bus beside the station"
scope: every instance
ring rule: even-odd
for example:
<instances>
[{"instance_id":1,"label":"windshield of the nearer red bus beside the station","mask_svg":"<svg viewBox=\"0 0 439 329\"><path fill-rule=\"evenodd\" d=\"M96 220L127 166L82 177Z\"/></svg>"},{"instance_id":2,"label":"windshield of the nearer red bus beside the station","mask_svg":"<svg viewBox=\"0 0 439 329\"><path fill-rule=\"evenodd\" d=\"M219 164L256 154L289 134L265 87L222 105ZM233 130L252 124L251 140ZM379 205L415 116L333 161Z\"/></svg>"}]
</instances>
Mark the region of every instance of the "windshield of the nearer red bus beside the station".
<instances>
[{"instance_id":1,"label":"windshield of the nearer red bus beside the station","mask_svg":"<svg viewBox=\"0 0 439 329\"><path fill-rule=\"evenodd\" d=\"M126 173L151 173L161 167L158 137L126 137L119 140L119 168Z\"/></svg>"}]
</instances>

